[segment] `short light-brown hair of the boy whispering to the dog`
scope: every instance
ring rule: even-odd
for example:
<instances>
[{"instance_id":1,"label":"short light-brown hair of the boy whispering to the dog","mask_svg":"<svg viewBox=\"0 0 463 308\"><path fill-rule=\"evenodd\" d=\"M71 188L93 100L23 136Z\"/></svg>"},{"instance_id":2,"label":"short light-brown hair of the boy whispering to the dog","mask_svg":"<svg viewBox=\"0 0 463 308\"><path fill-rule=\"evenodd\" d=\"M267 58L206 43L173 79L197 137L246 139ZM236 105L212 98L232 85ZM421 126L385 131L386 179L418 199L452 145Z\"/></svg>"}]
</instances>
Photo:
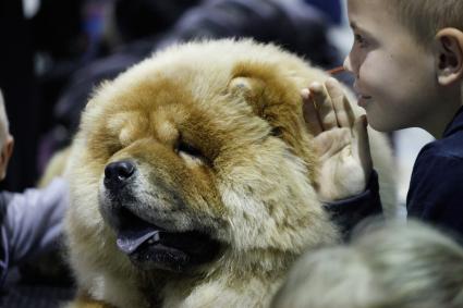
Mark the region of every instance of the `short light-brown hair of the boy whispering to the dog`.
<instances>
[{"instance_id":1,"label":"short light-brown hair of the boy whispering to the dog","mask_svg":"<svg viewBox=\"0 0 463 308\"><path fill-rule=\"evenodd\" d=\"M425 48L446 27L463 32L462 0L381 0L387 2L399 22L409 28Z\"/></svg>"}]
</instances>

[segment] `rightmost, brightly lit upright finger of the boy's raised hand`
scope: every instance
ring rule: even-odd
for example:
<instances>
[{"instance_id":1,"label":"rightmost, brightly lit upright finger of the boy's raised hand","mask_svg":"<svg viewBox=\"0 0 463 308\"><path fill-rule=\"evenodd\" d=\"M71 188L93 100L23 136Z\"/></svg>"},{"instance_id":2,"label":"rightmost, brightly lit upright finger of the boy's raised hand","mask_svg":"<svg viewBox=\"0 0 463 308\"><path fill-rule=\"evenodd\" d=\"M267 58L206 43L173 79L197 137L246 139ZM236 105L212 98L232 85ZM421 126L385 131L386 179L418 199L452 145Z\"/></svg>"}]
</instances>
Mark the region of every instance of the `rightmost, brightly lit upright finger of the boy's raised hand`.
<instances>
[{"instance_id":1,"label":"rightmost, brightly lit upright finger of the boy's raised hand","mask_svg":"<svg viewBox=\"0 0 463 308\"><path fill-rule=\"evenodd\" d=\"M354 111L352 110L351 103L342 90L341 85L337 79L331 77L326 82L326 88L328 95L331 97L334 114L339 125L341 127L352 127L355 122Z\"/></svg>"}]
</instances>

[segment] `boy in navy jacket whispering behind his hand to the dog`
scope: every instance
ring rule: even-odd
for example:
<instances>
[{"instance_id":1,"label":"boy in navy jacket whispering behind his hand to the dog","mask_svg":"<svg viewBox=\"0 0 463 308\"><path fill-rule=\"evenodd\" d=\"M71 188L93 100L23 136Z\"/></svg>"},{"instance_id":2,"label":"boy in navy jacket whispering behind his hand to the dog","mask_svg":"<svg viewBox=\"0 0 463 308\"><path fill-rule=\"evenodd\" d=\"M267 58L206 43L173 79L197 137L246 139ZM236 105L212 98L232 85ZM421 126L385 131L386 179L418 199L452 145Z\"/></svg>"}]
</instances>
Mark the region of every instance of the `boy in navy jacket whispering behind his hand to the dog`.
<instances>
[{"instance_id":1,"label":"boy in navy jacket whispering behind his hand to the dog","mask_svg":"<svg viewBox=\"0 0 463 308\"><path fill-rule=\"evenodd\" d=\"M348 0L348 12L355 40L344 67L355 76L357 103L368 123L381 132L422 127L437 139L416 159L409 218L462 236L463 1ZM375 211L379 198L370 189L365 119L354 119L336 81L325 86L303 90L306 121L322 157L320 176L326 182L344 173L352 181L349 187L318 189L319 197L341 217L358 204ZM319 121L310 115L316 112Z\"/></svg>"}]
</instances>

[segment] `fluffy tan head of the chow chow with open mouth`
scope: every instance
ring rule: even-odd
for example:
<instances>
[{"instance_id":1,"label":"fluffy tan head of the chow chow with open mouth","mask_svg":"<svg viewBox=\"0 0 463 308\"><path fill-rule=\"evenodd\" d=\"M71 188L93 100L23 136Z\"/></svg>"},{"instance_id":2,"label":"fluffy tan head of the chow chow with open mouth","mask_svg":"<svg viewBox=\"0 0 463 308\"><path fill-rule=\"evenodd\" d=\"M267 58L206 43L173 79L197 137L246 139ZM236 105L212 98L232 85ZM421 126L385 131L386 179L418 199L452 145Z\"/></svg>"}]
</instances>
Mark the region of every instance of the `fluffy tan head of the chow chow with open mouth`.
<instances>
[{"instance_id":1,"label":"fluffy tan head of the chow chow with open mouth","mask_svg":"<svg viewBox=\"0 0 463 308\"><path fill-rule=\"evenodd\" d=\"M219 40L102 85L74 146L73 233L85 225L113 258L176 272L331 239L298 95L320 77L273 46Z\"/></svg>"}]
</instances>

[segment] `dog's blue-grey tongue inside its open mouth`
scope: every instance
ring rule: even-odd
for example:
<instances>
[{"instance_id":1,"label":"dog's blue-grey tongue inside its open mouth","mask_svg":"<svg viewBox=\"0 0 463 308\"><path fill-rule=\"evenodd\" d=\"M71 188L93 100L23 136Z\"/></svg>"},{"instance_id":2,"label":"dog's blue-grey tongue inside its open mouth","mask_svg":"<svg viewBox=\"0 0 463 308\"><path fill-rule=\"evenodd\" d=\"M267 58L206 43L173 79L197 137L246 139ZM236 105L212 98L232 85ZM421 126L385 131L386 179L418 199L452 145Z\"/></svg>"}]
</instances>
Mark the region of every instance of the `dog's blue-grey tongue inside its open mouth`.
<instances>
[{"instance_id":1,"label":"dog's blue-grey tongue inside its open mouth","mask_svg":"<svg viewBox=\"0 0 463 308\"><path fill-rule=\"evenodd\" d=\"M118 233L115 244L122 252L131 255L147 242L150 244L159 242L159 229L153 225L139 225L130 230L121 230Z\"/></svg>"}]
</instances>

